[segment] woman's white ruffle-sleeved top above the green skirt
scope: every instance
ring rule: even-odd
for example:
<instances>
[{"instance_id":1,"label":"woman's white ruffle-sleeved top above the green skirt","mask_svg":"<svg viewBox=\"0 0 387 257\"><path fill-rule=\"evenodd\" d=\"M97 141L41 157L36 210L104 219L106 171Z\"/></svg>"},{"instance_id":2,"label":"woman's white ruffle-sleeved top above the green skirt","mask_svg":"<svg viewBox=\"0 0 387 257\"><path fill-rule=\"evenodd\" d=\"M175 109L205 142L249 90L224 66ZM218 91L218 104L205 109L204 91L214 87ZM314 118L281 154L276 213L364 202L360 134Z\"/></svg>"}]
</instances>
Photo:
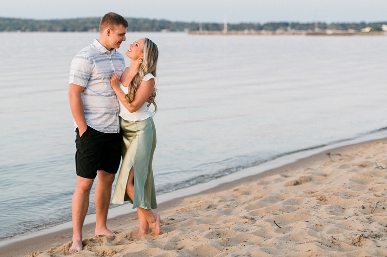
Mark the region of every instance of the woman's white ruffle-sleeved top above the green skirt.
<instances>
[{"instance_id":1,"label":"woman's white ruffle-sleeved top above the green skirt","mask_svg":"<svg viewBox=\"0 0 387 257\"><path fill-rule=\"evenodd\" d=\"M143 80L148 81L151 78L153 78L155 80L155 90L157 91L157 89L156 89L157 77L155 77L152 73L146 74L143 77ZM125 93L125 95L127 94L128 90L129 90L129 88L124 87L121 84L121 82L119 82L119 88L123 91L123 93ZM140 107L140 109L134 113L131 113L130 111L128 111L126 109L126 107L121 103L121 101L118 100L118 103L119 103L119 116L122 119L127 120L127 121L142 121L142 120L148 119L149 117L153 117L153 115L155 115L153 112L151 112L149 110L149 107L148 107L149 103L148 102L145 102L143 104L143 106Z\"/></svg>"}]
</instances>

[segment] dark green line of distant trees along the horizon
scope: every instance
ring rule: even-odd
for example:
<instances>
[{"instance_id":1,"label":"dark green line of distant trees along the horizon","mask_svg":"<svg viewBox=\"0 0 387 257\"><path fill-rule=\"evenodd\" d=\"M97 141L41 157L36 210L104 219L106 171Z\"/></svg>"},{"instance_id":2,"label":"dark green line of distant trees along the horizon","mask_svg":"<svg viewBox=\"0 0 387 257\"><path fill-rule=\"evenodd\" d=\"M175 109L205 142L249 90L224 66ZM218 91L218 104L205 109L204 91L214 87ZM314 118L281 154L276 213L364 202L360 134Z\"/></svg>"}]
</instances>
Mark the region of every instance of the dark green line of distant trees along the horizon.
<instances>
[{"instance_id":1,"label":"dark green line of distant trees along the horizon","mask_svg":"<svg viewBox=\"0 0 387 257\"><path fill-rule=\"evenodd\" d=\"M135 19L127 18L129 27L127 31L222 31L222 23L197 23L197 22L170 22L167 20ZM80 18L80 19L62 19L62 20L30 20L30 19L12 19L0 18L0 31L47 31L47 32L87 32L98 31L100 18ZM381 31L381 26L387 22L377 23L317 23L318 29L334 30L356 30L370 28L372 31ZM228 31L243 30L314 30L315 23L288 23L271 22L265 24L259 23L240 23L228 24Z\"/></svg>"}]
</instances>

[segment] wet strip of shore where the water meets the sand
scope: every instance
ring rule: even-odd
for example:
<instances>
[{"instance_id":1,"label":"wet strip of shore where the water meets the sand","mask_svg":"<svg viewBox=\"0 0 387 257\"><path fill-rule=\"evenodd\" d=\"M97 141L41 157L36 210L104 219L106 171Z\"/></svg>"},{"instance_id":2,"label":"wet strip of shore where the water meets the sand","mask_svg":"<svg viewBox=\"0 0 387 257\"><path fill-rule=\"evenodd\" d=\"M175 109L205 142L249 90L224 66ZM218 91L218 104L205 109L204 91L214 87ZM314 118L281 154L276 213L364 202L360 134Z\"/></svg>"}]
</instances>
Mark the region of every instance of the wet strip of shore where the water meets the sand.
<instances>
[{"instance_id":1,"label":"wet strip of shore where the water meets the sand","mask_svg":"<svg viewBox=\"0 0 387 257\"><path fill-rule=\"evenodd\" d=\"M385 133L368 135L365 137L342 141L337 144L320 148L296 152L279 157L277 159L262 163L258 166L249 167L228 176L195 185L189 188L180 189L174 192L157 196L159 208L157 212L164 212L176 208L185 197L195 197L214 194L225 190L230 190L244 183L250 183L259 179L283 174L289 170L296 170L308 166L320 160L329 160L331 156L327 152L345 151L349 148L362 147L376 141L387 140ZM162 217L166 218L166 217ZM136 212L131 205L124 204L119 207L109 209L108 226L112 224L122 224L128 219L136 219ZM88 215L84 225L84 238L94 236L95 215ZM25 256L37 251L45 251L51 247L59 247L71 241L71 222L60 224L49 229L21 235L0 241L0 255L2 257Z\"/></svg>"}]
</instances>

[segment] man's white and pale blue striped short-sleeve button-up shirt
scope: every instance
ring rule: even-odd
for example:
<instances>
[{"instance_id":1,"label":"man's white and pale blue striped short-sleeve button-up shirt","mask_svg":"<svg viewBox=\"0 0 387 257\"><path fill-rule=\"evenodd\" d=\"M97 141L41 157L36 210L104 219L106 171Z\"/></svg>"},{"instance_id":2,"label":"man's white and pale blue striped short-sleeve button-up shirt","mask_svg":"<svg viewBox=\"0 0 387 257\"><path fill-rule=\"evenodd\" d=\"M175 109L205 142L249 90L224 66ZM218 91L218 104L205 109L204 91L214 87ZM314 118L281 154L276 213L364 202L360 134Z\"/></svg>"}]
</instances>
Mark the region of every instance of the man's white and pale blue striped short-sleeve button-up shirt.
<instances>
[{"instance_id":1,"label":"man's white and pale blue striped short-sleeve button-up shirt","mask_svg":"<svg viewBox=\"0 0 387 257\"><path fill-rule=\"evenodd\" d=\"M119 132L119 105L110 77L121 76L125 68L122 54L107 50L97 39L82 49L73 59L70 84L85 87L81 94L86 124L104 133ZM74 121L75 127L77 124Z\"/></svg>"}]
</instances>

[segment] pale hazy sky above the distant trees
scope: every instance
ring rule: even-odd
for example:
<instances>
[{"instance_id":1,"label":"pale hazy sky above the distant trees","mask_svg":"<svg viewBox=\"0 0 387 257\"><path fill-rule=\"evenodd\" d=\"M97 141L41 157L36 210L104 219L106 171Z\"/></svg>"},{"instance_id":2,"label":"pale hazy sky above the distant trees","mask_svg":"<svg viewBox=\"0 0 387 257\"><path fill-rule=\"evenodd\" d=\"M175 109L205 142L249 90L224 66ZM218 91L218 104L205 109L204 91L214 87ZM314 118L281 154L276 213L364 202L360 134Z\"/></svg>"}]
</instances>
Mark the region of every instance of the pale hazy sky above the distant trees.
<instances>
[{"instance_id":1,"label":"pale hazy sky above the distant trees","mask_svg":"<svg viewBox=\"0 0 387 257\"><path fill-rule=\"evenodd\" d=\"M387 0L0 0L1 18L36 20L102 17L203 22L359 23L387 21Z\"/></svg>"}]
</instances>

